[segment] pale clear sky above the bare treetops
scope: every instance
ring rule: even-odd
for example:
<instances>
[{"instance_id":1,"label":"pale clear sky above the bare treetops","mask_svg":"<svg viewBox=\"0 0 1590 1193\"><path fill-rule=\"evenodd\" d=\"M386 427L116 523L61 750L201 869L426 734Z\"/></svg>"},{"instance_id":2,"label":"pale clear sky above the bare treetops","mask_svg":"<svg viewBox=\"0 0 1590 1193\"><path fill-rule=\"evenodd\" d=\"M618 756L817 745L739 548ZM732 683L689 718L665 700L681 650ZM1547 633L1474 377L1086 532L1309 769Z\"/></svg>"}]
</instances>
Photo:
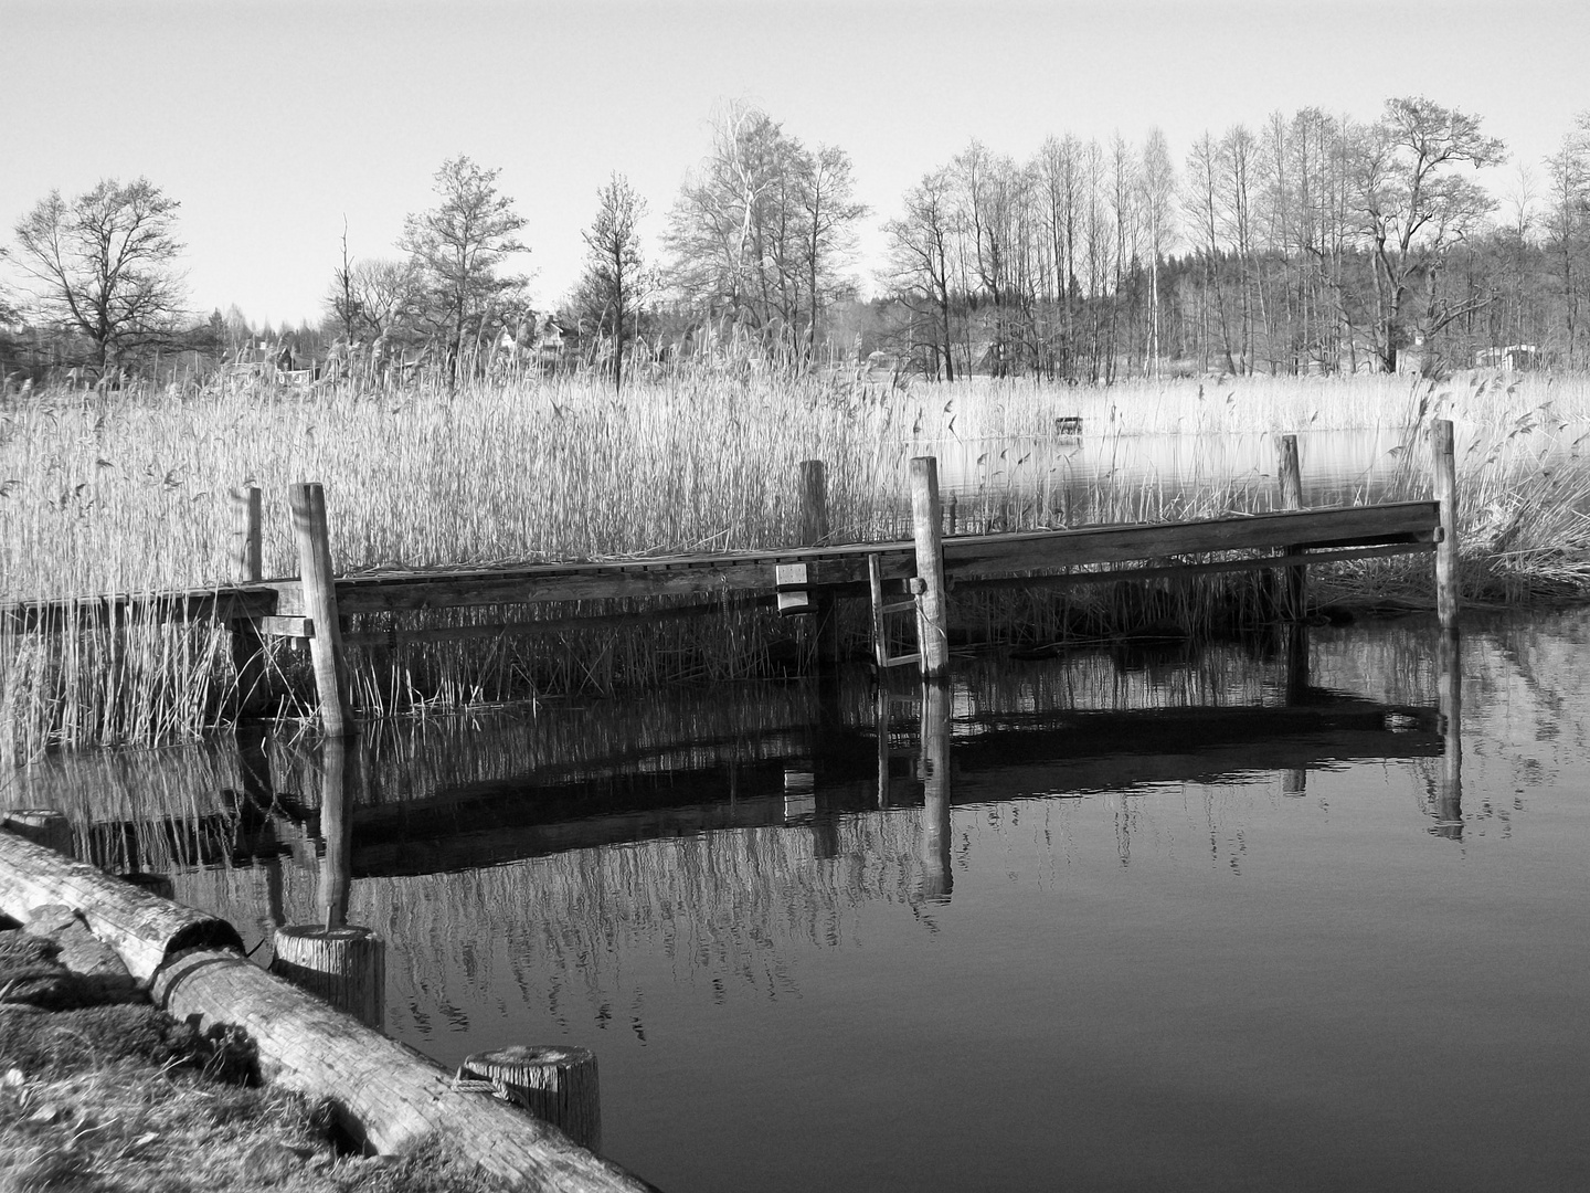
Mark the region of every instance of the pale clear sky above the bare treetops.
<instances>
[{"instance_id":1,"label":"pale clear sky above the bare treetops","mask_svg":"<svg viewBox=\"0 0 1590 1193\"><path fill-rule=\"evenodd\" d=\"M343 218L353 256L391 256L466 153L501 167L547 309L614 170L650 204L655 256L725 97L849 151L876 253L906 188L973 137L1027 157L1158 126L1180 167L1204 130L1423 94L1512 150L1493 191L1520 164L1544 183L1590 110L1587 59L1590 0L0 0L0 243L52 188L145 175L181 202L196 312L297 323L323 313Z\"/></svg>"}]
</instances>

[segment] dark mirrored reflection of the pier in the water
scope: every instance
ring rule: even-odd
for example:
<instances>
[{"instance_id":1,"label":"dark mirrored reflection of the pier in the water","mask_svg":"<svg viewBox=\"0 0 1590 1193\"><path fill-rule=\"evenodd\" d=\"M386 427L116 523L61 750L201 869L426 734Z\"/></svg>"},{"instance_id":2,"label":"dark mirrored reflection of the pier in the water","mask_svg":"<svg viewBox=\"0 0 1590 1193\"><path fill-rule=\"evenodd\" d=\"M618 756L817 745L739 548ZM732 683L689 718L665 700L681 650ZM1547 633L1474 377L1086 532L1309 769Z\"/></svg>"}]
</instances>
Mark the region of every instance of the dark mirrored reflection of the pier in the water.
<instances>
[{"instance_id":1,"label":"dark mirrored reflection of the pier in the water","mask_svg":"<svg viewBox=\"0 0 1590 1193\"><path fill-rule=\"evenodd\" d=\"M1011 789L1064 797L1280 771L1283 789L1301 794L1310 770L1361 759L1444 757L1436 802L1460 832L1458 717L1447 713L1455 665L1439 716L1310 687L1307 659L1301 633L1269 655L1212 652L1191 668L1186 697L1242 701L1229 705L1100 708L1111 697L1130 703L1132 682L1094 659L1016 678L971 671L894 698L855 673L728 698L690 692L671 703L383 725L350 743L348 781L332 784L348 803L347 873L472 870L792 821L809 827L817 856L832 856L835 819L854 813L925 806L933 834L949 806ZM313 743L243 736L231 751L172 752L164 764L94 756L80 762L89 773L75 775L62 760L22 799L67 811L86 854L111 869L258 861L278 872L273 903L285 859L304 869L324 854L331 775ZM941 881L948 892L948 875Z\"/></svg>"}]
</instances>

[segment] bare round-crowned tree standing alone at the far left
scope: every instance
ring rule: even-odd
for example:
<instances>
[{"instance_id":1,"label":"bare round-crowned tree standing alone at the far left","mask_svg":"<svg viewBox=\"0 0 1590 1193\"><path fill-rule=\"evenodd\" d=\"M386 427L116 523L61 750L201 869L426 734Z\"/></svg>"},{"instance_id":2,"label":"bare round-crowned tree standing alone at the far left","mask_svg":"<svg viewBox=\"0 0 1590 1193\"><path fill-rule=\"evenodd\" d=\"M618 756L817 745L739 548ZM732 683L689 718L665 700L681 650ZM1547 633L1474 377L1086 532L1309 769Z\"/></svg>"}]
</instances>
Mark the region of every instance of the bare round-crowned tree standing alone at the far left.
<instances>
[{"instance_id":1,"label":"bare round-crowned tree standing alone at the far left","mask_svg":"<svg viewBox=\"0 0 1590 1193\"><path fill-rule=\"evenodd\" d=\"M105 178L72 199L51 191L16 226L17 264L38 283L45 310L89 339L100 372L175 332L176 208L145 178Z\"/></svg>"}]
</instances>

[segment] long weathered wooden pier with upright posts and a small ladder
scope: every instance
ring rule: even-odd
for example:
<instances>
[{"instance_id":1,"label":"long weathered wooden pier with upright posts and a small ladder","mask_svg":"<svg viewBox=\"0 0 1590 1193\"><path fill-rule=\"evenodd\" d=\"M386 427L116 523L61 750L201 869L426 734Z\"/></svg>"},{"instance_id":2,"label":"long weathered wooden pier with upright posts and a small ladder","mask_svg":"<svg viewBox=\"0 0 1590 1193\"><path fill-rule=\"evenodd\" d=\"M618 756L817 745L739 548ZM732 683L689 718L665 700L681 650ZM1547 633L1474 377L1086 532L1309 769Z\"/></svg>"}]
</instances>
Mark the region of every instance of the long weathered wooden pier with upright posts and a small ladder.
<instances>
[{"instance_id":1,"label":"long weathered wooden pier with upright posts and a small ladder","mask_svg":"<svg viewBox=\"0 0 1590 1193\"><path fill-rule=\"evenodd\" d=\"M1429 501L1299 509L1302 482L1296 437L1280 452L1283 509L1178 523L1097 525L994 534L944 534L937 463L911 461L911 541L822 544L827 538L825 471L801 469L801 538L816 546L747 552L698 552L614 562L534 563L472 569L331 574L331 528L320 485L293 487L301 574L259 577L258 490L240 501L243 579L202 592L113 595L0 608L13 631L121 625L129 620L219 620L234 633L240 690L262 682L267 638L307 639L324 732L351 725L345 651L350 646L498 633L549 633L599 625L603 616L444 628L343 633L356 614L467 606L529 606L612 598L693 598L658 609L679 617L736 606L790 612L832 609L836 600L870 600L879 665L917 663L924 678L948 670L948 600L960 589L1054 587L1285 569L1291 616L1301 616L1309 565L1431 552L1441 624L1458 614L1456 480L1450 422L1431 434L1436 495ZM919 649L889 657L884 616L914 611ZM636 614L623 614L634 620Z\"/></svg>"}]
</instances>

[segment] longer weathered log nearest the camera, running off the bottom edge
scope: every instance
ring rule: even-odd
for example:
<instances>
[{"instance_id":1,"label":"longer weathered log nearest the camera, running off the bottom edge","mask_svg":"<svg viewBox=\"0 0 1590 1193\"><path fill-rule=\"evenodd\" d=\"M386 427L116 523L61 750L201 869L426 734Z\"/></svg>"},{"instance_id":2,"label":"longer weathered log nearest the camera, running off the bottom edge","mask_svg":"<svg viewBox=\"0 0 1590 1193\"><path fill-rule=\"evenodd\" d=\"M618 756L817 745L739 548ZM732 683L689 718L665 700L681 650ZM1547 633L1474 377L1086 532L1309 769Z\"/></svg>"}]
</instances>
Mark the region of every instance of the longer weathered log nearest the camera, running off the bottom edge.
<instances>
[{"instance_id":1,"label":"longer weathered log nearest the camera, running off the bottom edge","mask_svg":"<svg viewBox=\"0 0 1590 1193\"><path fill-rule=\"evenodd\" d=\"M243 1028L267 1080L326 1099L340 1125L377 1153L445 1136L488 1172L545 1193L642 1193L644 1180L490 1094L455 1090L439 1066L366 1028L240 953L199 950L154 981L156 1004L178 1020Z\"/></svg>"}]
</instances>

